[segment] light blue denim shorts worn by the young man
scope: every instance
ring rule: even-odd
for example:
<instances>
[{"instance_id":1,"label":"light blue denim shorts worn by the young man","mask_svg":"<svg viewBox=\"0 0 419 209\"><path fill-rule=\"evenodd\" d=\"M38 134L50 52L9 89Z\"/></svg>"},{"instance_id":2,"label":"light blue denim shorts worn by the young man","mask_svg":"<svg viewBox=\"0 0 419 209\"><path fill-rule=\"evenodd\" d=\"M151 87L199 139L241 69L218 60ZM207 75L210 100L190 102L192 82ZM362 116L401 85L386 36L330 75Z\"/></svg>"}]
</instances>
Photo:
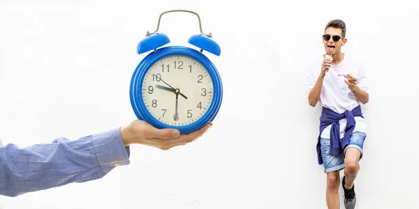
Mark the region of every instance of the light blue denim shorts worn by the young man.
<instances>
[{"instance_id":1,"label":"light blue denim shorts worn by the young man","mask_svg":"<svg viewBox=\"0 0 419 209\"><path fill-rule=\"evenodd\" d=\"M345 168L345 152L347 148L357 148L361 152L360 159L362 158L362 148L364 147L364 141L367 134L365 132L353 132L349 137L349 144L344 148L344 151L339 155L330 154L330 139L320 139L321 144L321 156L323 157L323 165L325 167L325 173L332 171L340 171Z\"/></svg>"}]
</instances>

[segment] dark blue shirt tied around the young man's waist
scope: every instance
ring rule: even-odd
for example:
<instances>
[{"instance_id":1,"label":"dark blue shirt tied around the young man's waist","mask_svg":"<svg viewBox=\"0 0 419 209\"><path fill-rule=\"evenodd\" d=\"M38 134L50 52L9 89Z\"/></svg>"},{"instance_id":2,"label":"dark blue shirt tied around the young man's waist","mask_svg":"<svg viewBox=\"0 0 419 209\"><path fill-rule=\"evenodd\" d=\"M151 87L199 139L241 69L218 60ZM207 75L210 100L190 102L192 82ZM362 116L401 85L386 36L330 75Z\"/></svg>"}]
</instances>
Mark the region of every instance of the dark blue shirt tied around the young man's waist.
<instances>
[{"instance_id":1,"label":"dark blue shirt tied around the young man's waist","mask_svg":"<svg viewBox=\"0 0 419 209\"><path fill-rule=\"evenodd\" d=\"M320 133L318 134L318 141L317 141L317 160L318 164L323 164L323 159L321 157L321 145L320 145L320 136L321 132L328 127L328 125L332 125L330 129L330 153L332 155L339 155L344 147L349 144L349 138L352 135L353 129L355 128L355 118L356 116L364 118L362 116L361 106L358 105L351 111L346 110L342 114L338 114L337 112L329 109L327 107L323 107L321 111L320 117ZM342 139L340 139L340 124L339 121L341 119L346 118L346 127L345 127L345 134Z\"/></svg>"}]
</instances>

